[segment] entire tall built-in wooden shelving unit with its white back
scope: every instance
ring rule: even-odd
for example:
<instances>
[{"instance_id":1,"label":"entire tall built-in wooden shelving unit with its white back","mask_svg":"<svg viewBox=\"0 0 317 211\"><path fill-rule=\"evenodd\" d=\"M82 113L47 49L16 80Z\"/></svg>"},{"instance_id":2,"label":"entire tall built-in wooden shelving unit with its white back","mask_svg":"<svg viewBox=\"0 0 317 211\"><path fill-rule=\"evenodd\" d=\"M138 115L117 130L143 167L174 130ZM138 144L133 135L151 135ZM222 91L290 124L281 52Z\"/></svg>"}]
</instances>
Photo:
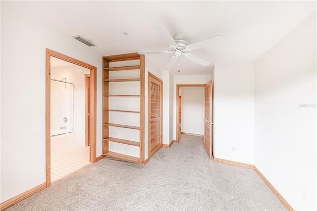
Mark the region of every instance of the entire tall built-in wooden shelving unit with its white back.
<instances>
[{"instance_id":1,"label":"entire tall built-in wooden shelving unit with its white back","mask_svg":"<svg viewBox=\"0 0 317 211\"><path fill-rule=\"evenodd\" d=\"M144 55L104 56L103 155L144 161L144 99Z\"/></svg>"}]
</instances>

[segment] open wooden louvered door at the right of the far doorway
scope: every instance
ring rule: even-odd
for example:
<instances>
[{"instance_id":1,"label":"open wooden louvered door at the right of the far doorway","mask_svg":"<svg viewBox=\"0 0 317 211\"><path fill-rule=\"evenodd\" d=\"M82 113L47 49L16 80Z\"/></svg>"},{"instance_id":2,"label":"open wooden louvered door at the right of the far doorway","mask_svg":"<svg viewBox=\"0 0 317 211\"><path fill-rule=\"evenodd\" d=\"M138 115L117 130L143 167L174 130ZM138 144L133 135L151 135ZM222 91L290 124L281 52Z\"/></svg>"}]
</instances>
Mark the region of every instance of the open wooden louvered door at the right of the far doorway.
<instances>
[{"instance_id":1,"label":"open wooden louvered door at the right of the far doorway","mask_svg":"<svg viewBox=\"0 0 317 211\"><path fill-rule=\"evenodd\" d=\"M205 85L205 115L204 115L204 147L211 158L212 156L212 81Z\"/></svg>"}]
</instances>

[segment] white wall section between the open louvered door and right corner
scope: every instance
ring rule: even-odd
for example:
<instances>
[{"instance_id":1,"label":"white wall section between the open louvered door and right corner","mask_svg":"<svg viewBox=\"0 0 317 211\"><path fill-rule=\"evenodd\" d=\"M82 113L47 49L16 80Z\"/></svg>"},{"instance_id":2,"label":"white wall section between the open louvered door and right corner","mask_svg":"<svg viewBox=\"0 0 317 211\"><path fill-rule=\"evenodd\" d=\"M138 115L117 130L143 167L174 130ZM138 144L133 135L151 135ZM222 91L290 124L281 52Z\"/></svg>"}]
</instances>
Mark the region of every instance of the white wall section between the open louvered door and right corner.
<instances>
[{"instance_id":1,"label":"white wall section between the open louvered door and right corner","mask_svg":"<svg viewBox=\"0 0 317 211\"><path fill-rule=\"evenodd\" d=\"M254 63L214 65L214 156L254 164Z\"/></svg>"}]
</instances>

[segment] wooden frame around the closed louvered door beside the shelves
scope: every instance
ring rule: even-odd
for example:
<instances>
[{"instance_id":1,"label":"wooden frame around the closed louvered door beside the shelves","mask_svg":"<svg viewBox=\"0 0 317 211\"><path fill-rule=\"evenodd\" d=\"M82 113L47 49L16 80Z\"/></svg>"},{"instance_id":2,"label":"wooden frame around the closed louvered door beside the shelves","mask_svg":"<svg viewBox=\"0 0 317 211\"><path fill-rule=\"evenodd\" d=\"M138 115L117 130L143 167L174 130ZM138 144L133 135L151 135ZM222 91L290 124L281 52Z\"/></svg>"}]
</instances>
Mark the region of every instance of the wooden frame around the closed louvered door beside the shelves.
<instances>
[{"instance_id":1,"label":"wooden frame around the closed louvered door beside the shelves","mask_svg":"<svg viewBox=\"0 0 317 211\"><path fill-rule=\"evenodd\" d=\"M161 132L161 136L163 135L163 124L162 124L162 120L163 120L163 81L160 80L157 76L153 75L151 72L148 72L148 90L149 90L149 87L151 86L151 84L149 83L149 79L150 77L158 80L162 86L161 86L161 99L160 99L160 123L159 123L159 127L160 127L160 132ZM151 101L150 101L150 92L148 92L148 108L150 107L150 104L151 104ZM150 160L151 158L151 125L149 124L149 120L151 118L151 111L150 109L148 109L148 161ZM160 138L160 142L159 142L160 145L163 146L163 139Z\"/></svg>"}]
</instances>

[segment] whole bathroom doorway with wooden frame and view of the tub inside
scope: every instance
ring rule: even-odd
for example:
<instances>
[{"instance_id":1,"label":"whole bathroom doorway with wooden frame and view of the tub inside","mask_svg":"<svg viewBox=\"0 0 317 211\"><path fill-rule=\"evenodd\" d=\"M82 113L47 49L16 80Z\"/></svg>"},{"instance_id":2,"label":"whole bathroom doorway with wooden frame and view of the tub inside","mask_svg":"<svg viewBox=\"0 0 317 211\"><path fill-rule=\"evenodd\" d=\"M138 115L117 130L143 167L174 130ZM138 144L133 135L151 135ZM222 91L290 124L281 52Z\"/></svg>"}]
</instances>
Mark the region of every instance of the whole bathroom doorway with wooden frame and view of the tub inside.
<instances>
[{"instance_id":1,"label":"whole bathroom doorway with wooden frame and view of the tub inside","mask_svg":"<svg viewBox=\"0 0 317 211\"><path fill-rule=\"evenodd\" d=\"M96 67L48 49L46 65L48 187L96 161Z\"/></svg>"}]
</instances>

